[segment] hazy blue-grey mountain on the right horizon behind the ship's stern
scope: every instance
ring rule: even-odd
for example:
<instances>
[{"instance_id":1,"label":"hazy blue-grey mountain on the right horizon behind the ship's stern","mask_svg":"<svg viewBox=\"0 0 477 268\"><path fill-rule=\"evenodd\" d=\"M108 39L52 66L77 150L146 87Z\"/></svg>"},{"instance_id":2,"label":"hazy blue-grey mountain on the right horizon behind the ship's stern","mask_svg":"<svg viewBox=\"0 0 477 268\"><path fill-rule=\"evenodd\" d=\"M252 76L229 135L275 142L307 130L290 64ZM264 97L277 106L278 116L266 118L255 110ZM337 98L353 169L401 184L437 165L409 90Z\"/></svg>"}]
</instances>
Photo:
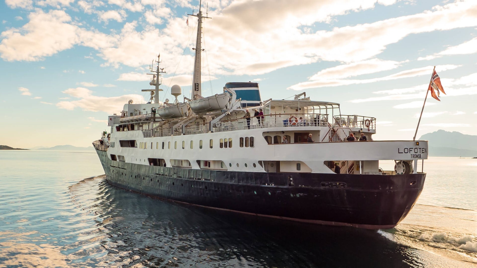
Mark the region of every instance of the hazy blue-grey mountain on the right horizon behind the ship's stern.
<instances>
[{"instance_id":1,"label":"hazy blue-grey mountain on the right horizon behind the ship's stern","mask_svg":"<svg viewBox=\"0 0 477 268\"><path fill-rule=\"evenodd\" d=\"M430 156L477 156L477 135L438 130L422 135L419 140L429 141Z\"/></svg>"}]
</instances>

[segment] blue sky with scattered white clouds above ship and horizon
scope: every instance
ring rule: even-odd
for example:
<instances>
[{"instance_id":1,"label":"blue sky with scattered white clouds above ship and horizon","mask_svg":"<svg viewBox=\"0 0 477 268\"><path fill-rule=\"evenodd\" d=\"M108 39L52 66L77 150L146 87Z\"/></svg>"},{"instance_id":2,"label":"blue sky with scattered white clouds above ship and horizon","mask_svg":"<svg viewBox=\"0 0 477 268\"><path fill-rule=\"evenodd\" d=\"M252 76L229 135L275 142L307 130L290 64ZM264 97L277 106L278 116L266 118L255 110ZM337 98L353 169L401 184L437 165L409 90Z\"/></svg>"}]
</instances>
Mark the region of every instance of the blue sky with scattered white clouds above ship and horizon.
<instances>
[{"instance_id":1,"label":"blue sky with scattered white clouds above ship and horizon","mask_svg":"<svg viewBox=\"0 0 477 268\"><path fill-rule=\"evenodd\" d=\"M0 144L90 146L124 103L145 103L161 55L164 89L190 97L197 0L0 3ZM210 0L202 10L202 95L259 82L263 100L306 92L377 119L375 140L475 134L476 0ZM179 97L182 101L182 96Z\"/></svg>"}]
</instances>

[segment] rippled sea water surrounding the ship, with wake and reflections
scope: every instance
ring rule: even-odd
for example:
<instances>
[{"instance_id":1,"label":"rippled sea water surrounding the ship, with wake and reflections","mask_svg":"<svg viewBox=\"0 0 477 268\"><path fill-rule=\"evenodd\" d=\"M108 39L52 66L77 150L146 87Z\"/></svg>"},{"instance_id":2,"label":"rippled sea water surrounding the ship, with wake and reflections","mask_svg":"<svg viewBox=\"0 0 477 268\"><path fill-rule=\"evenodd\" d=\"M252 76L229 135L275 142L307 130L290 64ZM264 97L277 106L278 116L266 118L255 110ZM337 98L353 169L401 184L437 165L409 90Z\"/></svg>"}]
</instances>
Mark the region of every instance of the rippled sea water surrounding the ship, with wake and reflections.
<instances>
[{"instance_id":1,"label":"rippled sea water surrounding the ship, with wake and reflections","mask_svg":"<svg viewBox=\"0 0 477 268\"><path fill-rule=\"evenodd\" d=\"M477 267L477 159L424 170L413 210L376 231L141 196L98 176L94 152L0 151L0 267Z\"/></svg>"}]
</instances>

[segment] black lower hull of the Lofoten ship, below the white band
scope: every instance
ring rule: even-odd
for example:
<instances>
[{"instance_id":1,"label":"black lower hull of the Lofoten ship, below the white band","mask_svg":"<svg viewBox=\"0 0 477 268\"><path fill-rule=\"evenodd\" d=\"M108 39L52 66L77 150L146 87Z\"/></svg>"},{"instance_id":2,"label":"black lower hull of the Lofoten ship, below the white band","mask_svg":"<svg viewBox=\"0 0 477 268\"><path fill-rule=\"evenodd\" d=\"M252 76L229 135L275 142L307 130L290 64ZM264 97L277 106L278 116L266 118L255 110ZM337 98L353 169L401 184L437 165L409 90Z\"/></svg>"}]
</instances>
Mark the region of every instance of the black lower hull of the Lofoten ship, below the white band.
<instances>
[{"instance_id":1,"label":"black lower hull of the Lofoten ship, below the white band","mask_svg":"<svg viewBox=\"0 0 477 268\"><path fill-rule=\"evenodd\" d=\"M156 198L300 222L392 228L409 213L425 173L260 173L148 166L96 150L112 186Z\"/></svg>"}]
</instances>

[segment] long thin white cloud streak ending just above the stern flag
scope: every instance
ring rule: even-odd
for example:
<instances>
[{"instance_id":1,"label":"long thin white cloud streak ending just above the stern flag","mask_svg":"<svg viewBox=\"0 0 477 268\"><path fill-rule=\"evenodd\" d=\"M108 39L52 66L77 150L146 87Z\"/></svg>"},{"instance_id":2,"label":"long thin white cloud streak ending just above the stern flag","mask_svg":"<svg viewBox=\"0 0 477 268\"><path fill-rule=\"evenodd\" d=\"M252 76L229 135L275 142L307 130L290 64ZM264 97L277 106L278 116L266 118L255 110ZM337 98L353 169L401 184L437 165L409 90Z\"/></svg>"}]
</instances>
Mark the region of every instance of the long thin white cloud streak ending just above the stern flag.
<instances>
[{"instance_id":1,"label":"long thin white cloud streak ending just above the stern flag","mask_svg":"<svg viewBox=\"0 0 477 268\"><path fill-rule=\"evenodd\" d=\"M460 67L461 65L454 65L454 64L447 64L447 65L440 65L439 71L445 70L452 70ZM372 68L371 70L379 70L376 68ZM363 83L373 83L373 82L380 82L380 81L389 81L394 79L401 79L401 78L409 78L421 75L428 75L429 73L432 74L433 66L415 68L411 70L405 70L401 72L396 72L391 75L387 75L384 77L378 78L371 78L371 79L361 79L361 80L351 80L351 79L324 79L324 80L316 80L316 81L308 81L308 82L301 82L298 84L294 84L289 87L289 89L293 90L304 90L308 88L318 88L318 87L328 87L328 86L343 86L343 85L351 85L351 84L363 84ZM364 71L363 71L364 72ZM357 73L359 71L357 70ZM366 72L364 72L366 73ZM312 77L313 78L313 77Z\"/></svg>"}]
</instances>

